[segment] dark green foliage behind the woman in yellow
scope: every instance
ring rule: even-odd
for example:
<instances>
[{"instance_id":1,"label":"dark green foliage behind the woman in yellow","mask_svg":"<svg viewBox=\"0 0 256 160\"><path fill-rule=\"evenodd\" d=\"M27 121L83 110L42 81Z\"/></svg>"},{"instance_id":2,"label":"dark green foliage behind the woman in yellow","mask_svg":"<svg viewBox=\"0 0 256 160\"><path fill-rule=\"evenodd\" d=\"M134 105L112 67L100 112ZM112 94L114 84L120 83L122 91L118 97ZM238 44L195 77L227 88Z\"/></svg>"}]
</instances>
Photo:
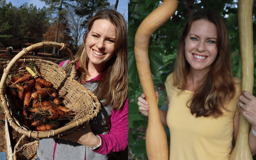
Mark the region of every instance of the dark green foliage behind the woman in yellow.
<instances>
[{"instance_id":1,"label":"dark green foliage behind the woman in yellow","mask_svg":"<svg viewBox=\"0 0 256 160\"><path fill-rule=\"evenodd\" d=\"M253 4L253 49L254 57L256 56L256 0ZM159 0L130 0L128 2L128 74L129 74L129 130L128 130L128 150L130 160L146 160L145 132L147 128L147 117L138 111L138 97L143 92L139 76L137 73L136 62L134 57L134 36L142 22L150 12L161 4ZM149 60L152 72L153 82L156 91L159 93L159 108L165 110L166 92L164 82L166 77L172 72L179 37L182 28L189 15L200 8L210 8L223 17L225 20L230 37L231 44L231 64L233 75L241 78L241 59L239 49L239 31L237 20L237 0L178 0L178 8L170 20L158 28L151 36L149 41ZM163 11L164 12L164 11ZM256 59L254 59L254 64ZM256 66L255 66L256 67ZM253 95L256 96L256 69L254 67L254 86ZM170 132L165 128L168 142L170 142ZM170 146L169 146L170 147ZM256 156L253 156L256 160Z\"/></svg>"}]
</instances>

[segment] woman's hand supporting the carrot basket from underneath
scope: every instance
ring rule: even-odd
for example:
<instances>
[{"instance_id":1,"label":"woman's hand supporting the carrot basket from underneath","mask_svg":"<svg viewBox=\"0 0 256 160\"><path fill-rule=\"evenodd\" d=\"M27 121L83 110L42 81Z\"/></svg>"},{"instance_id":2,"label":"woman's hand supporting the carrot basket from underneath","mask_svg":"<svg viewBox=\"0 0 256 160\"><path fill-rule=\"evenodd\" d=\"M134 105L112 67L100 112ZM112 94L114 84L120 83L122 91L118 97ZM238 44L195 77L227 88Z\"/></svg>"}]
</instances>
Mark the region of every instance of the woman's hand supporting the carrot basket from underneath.
<instances>
[{"instance_id":1,"label":"woman's hand supporting the carrot basket from underneath","mask_svg":"<svg viewBox=\"0 0 256 160\"><path fill-rule=\"evenodd\" d=\"M72 142L77 142L90 148L100 144L100 138L92 133L89 122L83 124L79 129L61 136L60 138L71 140Z\"/></svg>"}]
</instances>

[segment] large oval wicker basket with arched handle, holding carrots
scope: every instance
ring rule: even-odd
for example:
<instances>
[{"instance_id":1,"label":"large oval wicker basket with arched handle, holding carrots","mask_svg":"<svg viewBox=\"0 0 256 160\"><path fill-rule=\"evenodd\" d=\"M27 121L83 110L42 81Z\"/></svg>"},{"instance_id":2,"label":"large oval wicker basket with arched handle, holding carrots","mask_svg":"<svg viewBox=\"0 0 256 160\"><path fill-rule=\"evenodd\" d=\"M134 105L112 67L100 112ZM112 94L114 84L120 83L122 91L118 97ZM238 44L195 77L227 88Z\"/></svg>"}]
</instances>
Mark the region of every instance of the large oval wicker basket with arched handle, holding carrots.
<instances>
[{"instance_id":1,"label":"large oval wicker basket with arched handle, holding carrots","mask_svg":"<svg viewBox=\"0 0 256 160\"><path fill-rule=\"evenodd\" d=\"M20 58L23 55L27 55L30 51L33 51L41 47L58 47L60 50L64 50L68 53L72 63L72 72L69 76L65 70L63 70L58 64L51 61L39 60L39 59L23 59ZM26 67L31 68L30 60L36 64L36 69L45 80L50 81L55 88L58 95L64 99L63 104L65 107L75 112L74 118L70 123L56 130L48 132L35 132L30 131L22 122L19 122L14 117L16 107L12 105L12 101L5 94L5 85L8 75L19 73L28 73ZM16 68L16 69L15 69ZM76 77L76 60L72 52L65 46L65 44L59 44L56 42L41 42L33 44L27 48L23 48L23 51L19 52L4 68L4 73L0 82L0 98L4 107L4 113L10 125L19 133L27 135L33 138L53 138L60 137L69 132L74 131L85 122L89 121L93 117L97 116L100 109L100 102L97 97L84 85L75 80ZM17 109L16 109L17 110Z\"/></svg>"}]
</instances>

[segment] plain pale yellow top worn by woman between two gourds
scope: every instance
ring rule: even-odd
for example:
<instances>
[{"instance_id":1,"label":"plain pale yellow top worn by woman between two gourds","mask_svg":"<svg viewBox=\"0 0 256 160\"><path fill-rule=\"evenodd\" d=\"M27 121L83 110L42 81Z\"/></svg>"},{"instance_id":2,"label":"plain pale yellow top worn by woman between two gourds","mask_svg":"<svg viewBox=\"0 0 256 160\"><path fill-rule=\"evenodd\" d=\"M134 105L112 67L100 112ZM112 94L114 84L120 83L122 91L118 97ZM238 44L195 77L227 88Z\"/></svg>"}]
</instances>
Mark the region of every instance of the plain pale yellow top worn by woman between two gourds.
<instances>
[{"instance_id":1,"label":"plain pale yellow top worn by woman between two gourds","mask_svg":"<svg viewBox=\"0 0 256 160\"><path fill-rule=\"evenodd\" d=\"M238 115L238 97L241 95L241 80L236 82L236 95L226 108L223 116L197 117L192 115L187 102L192 98L192 91L180 92L174 87L172 74L165 82L169 99L167 125L170 129L170 159L171 160L229 160L233 140L233 119ZM177 93L180 92L178 95ZM189 103L188 103L189 106Z\"/></svg>"}]
</instances>

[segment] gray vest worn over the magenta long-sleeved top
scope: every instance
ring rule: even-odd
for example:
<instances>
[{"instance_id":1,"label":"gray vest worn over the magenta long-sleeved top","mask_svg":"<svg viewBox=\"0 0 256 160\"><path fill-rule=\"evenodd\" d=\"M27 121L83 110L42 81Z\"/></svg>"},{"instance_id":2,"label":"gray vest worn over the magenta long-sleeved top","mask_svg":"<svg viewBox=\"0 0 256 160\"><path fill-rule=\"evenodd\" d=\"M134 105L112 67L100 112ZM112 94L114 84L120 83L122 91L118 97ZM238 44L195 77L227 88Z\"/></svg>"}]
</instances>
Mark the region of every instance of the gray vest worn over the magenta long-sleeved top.
<instances>
[{"instance_id":1,"label":"gray vest worn over the magenta long-sleeved top","mask_svg":"<svg viewBox=\"0 0 256 160\"><path fill-rule=\"evenodd\" d=\"M66 66L68 61L65 61L63 66ZM71 71L70 71L71 73ZM76 76L76 79L78 76ZM84 86L92 92L96 89L97 83L89 82ZM103 102L103 100L101 100ZM90 120L90 126L94 134L107 134L109 131L108 124L110 123L111 106L100 107L100 113ZM37 148L37 156L40 160L52 160L53 150L56 138L42 139L39 141ZM54 160L108 160L108 155L95 153L91 148L72 142L70 140L59 139L55 148Z\"/></svg>"}]
</instances>

